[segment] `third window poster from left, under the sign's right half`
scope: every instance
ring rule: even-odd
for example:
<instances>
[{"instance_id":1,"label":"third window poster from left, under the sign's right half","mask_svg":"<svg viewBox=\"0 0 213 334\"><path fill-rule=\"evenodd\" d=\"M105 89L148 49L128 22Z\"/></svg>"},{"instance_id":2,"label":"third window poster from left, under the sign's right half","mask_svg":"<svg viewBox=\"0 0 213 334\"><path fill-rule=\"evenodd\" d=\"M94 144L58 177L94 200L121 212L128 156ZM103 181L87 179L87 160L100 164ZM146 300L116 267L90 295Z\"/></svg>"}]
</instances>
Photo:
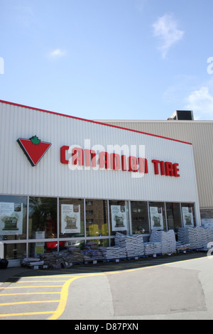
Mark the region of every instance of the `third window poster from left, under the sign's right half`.
<instances>
[{"instance_id":1,"label":"third window poster from left, under the sign's right half","mask_svg":"<svg viewBox=\"0 0 213 334\"><path fill-rule=\"evenodd\" d=\"M127 230L125 205L111 205L111 230Z\"/></svg>"}]
</instances>

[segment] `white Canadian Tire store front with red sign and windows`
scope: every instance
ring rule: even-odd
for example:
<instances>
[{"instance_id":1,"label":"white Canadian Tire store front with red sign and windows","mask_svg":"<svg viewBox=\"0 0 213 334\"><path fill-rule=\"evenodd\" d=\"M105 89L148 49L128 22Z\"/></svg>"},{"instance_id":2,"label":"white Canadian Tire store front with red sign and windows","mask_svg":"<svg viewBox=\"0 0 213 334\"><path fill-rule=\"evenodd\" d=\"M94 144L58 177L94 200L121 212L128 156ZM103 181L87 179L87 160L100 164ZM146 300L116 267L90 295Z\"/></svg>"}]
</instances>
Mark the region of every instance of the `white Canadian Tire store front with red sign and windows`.
<instances>
[{"instance_id":1,"label":"white Canadian Tire store front with red sign and windows","mask_svg":"<svg viewBox=\"0 0 213 334\"><path fill-rule=\"evenodd\" d=\"M116 232L200 225L192 144L0 102L0 241L10 264Z\"/></svg>"}]
</instances>

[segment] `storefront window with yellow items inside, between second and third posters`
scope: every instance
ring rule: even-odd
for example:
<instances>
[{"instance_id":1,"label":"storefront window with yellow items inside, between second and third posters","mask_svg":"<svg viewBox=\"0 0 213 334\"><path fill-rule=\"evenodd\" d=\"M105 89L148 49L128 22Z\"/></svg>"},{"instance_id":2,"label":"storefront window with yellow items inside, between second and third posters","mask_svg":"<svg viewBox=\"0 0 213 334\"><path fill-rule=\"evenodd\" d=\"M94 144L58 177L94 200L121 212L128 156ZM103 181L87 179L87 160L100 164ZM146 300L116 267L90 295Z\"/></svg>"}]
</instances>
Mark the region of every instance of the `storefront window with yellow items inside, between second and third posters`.
<instances>
[{"instance_id":1,"label":"storefront window with yellow items inside, between second and third posters","mask_svg":"<svg viewBox=\"0 0 213 334\"><path fill-rule=\"evenodd\" d=\"M107 200L86 200L87 237L109 235Z\"/></svg>"}]
</instances>

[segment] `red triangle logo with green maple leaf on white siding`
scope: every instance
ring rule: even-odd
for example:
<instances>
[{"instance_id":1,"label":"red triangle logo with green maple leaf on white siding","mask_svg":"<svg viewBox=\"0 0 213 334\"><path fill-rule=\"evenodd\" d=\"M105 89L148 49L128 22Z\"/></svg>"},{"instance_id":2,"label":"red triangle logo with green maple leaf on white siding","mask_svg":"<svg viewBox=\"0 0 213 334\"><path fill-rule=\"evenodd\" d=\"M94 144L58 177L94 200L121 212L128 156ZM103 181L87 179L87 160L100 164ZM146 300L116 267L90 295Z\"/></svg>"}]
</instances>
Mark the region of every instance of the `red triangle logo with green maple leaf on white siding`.
<instances>
[{"instance_id":1,"label":"red triangle logo with green maple leaf on white siding","mask_svg":"<svg viewBox=\"0 0 213 334\"><path fill-rule=\"evenodd\" d=\"M18 138L17 141L33 167L38 165L40 159L43 158L52 145L51 143L40 141L37 136L33 136L31 139Z\"/></svg>"}]
</instances>

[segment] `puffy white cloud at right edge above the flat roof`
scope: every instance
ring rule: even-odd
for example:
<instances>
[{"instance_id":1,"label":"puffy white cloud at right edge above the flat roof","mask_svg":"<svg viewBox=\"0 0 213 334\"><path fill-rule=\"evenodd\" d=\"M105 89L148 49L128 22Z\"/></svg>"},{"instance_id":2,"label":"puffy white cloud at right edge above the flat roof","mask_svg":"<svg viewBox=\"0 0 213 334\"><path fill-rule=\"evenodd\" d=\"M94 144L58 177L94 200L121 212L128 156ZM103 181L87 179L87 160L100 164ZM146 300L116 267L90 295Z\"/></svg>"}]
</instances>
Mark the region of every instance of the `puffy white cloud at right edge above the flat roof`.
<instances>
[{"instance_id":1,"label":"puffy white cloud at right edge above the flat roof","mask_svg":"<svg viewBox=\"0 0 213 334\"><path fill-rule=\"evenodd\" d=\"M195 119L213 119L213 95L209 87L203 86L194 90L186 99L186 108L193 110Z\"/></svg>"}]
</instances>

